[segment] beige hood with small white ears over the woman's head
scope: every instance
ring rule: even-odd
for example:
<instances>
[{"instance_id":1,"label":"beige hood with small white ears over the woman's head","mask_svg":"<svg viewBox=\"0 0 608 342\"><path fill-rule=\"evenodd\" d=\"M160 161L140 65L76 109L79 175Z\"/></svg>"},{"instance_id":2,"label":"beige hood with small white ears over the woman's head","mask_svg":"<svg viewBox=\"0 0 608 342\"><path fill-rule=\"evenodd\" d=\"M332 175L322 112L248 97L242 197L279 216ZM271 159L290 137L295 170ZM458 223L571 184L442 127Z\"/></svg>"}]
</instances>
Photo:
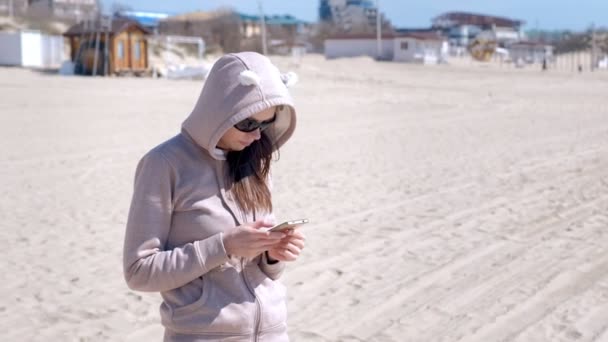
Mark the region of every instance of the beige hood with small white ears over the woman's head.
<instances>
[{"instance_id":1,"label":"beige hood with small white ears over the woman's head","mask_svg":"<svg viewBox=\"0 0 608 342\"><path fill-rule=\"evenodd\" d=\"M294 76L282 75L266 56L255 52L225 55L213 65L182 129L211 156L223 160L225 153L216 146L230 127L281 106L275 123L264 131L276 150L291 137L296 125L296 111L287 89Z\"/></svg>"}]
</instances>

